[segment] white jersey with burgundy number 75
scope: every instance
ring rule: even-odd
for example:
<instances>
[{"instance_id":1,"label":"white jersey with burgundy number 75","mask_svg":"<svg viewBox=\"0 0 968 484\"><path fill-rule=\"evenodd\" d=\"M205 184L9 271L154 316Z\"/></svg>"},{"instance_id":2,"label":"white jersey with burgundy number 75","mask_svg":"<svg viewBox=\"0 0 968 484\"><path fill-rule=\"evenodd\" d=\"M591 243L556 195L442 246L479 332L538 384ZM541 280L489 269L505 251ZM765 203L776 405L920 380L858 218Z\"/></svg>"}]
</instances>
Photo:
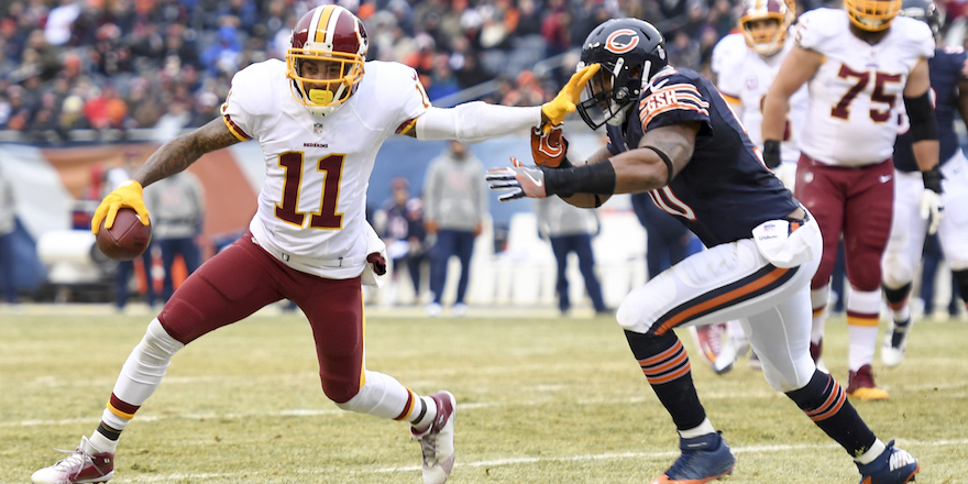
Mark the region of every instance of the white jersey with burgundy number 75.
<instances>
[{"instance_id":1,"label":"white jersey with burgundy number 75","mask_svg":"<svg viewBox=\"0 0 968 484\"><path fill-rule=\"evenodd\" d=\"M796 42L825 57L809 81L800 148L828 165L862 166L893 154L898 128L892 112L904 102L911 70L934 56L934 37L926 23L901 15L875 45L857 38L849 25L839 9L800 16Z\"/></svg>"}]
</instances>

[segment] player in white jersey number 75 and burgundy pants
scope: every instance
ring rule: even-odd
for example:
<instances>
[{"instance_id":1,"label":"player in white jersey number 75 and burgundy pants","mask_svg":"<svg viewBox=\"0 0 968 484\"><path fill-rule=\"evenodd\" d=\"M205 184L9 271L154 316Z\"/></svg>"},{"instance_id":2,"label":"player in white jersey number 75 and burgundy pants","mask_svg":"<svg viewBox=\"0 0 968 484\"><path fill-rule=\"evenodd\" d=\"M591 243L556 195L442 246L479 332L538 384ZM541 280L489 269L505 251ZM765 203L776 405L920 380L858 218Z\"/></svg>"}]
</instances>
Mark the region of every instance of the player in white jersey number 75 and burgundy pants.
<instances>
[{"instance_id":1,"label":"player in white jersey number 75 and burgundy pants","mask_svg":"<svg viewBox=\"0 0 968 484\"><path fill-rule=\"evenodd\" d=\"M898 16L900 10L901 0L845 0L844 10L816 9L801 15L796 45L763 108L763 157L771 163L780 156L790 98L807 84L794 194L816 217L824 235L823 258L811 284L811 353L820 358L831 274L843 234L853 289L846 306L847 394L862 400L888 398L875 384L871 362L880 323L880 260L891 230L891 155L898 132L893 113L902 98L919 168L931 174L938 163L927 69L934 38L924 22ZM924 179L927 186L931 176Z\"/></svg>"}]
</instances>

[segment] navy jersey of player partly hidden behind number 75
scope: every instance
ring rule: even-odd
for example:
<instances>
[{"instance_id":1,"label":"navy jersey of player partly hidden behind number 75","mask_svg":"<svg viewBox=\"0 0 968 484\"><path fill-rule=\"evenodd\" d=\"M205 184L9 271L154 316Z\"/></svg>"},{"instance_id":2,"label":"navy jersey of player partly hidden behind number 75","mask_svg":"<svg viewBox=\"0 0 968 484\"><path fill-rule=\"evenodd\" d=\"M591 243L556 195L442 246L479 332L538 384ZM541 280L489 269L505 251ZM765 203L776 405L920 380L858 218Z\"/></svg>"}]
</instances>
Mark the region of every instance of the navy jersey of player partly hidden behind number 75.
<instances>
[{"instance_id":1,"label":"navy jersey of player partly hidden behind number 75","mask_svg":"<svg viewBox=\"0 0 968 484\"><path fill-rule=\"evenodd\" d=\"M938 48L934 57L927 61L927 69L931 76L931 89L934 91L934 116L938 121L938 162L944 164L958 150L958 134L955 133L955 120L960 118L958 112L958 82L961 80L961 69L968 53L961 47ZM894 167L901 172L917 172L917 162L911 150L913 140L908 130L908 120L901 121L903 133L898 134L894 142Z\"/></svg>"}]
</instances>

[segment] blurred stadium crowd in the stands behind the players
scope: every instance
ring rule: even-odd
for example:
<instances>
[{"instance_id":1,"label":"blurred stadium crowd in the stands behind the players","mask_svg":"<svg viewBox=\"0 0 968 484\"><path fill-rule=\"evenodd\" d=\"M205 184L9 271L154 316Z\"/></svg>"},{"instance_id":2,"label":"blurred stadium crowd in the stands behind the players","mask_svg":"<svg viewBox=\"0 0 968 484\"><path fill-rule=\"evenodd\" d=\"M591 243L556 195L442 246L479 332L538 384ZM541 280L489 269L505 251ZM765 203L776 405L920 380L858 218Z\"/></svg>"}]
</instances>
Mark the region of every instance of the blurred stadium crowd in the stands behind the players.
<instances>
[{"instance_id":1,"label":"blurred stadium crowd in the stands behind the players","mask_svg":"<svg viewBox=\"0 0 968 484\"><path fill-rule=\"evenodd\" d=\"M822 0L799 2L798 10ZM162 138L218 116L232 75L283 58L307 0L0 2L0 131L58 143L77 130L152 128ZM343 0L364 20L370 58L422 76L431 100L532 106L553 96L602 21L636 16L667 35L671 61L707 72L738 0ZM565 68L562 68L565 66ZM155 134L158 136L158 134ZM94 140L97 141L97 140Z\"/></svg>"}]
</instances>

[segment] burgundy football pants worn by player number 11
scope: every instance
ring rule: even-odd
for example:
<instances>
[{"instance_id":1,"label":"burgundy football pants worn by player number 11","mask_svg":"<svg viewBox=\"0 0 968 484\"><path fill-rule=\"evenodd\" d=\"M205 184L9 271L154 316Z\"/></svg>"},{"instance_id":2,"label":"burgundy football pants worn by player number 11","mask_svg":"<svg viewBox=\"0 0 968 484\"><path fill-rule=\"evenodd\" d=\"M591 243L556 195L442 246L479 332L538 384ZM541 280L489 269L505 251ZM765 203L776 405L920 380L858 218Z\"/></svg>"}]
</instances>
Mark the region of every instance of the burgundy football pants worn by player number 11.
<instances>
[{"instance_id":1,"label":"burgundy football pants worn by player number 11","mask_svg":"<svg viewBox=\"0 0 968 484\"><path fill-rule=\"evenodd\" d=\"M326 279L296 271L246 233L193 273L158 315L165 331L188 344L288 298L309 318L326 395L344 403L363 375L363 295L360 277Z\"/></svg>"}]
</instances>

